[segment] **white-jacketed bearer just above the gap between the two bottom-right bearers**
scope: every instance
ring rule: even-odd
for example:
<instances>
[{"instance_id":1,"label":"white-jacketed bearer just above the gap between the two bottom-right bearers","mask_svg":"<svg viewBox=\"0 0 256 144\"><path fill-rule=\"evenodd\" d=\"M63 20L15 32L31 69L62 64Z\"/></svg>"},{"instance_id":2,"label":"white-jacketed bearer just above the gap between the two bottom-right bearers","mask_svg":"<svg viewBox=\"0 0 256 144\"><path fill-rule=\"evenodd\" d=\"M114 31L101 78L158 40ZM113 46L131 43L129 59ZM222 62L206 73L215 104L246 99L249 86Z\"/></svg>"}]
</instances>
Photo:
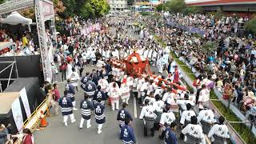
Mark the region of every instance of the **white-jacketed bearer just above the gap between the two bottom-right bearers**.
<instances>
[{"instance_id":1,"label":"white-jacketed bearer just above the gap between the two bottom-right bearers","mask_svg":"<svg viewBox=\"0 0 256 144\"><path fill-rule=\"evenodd\" d=\"M204 109L200 110L198 114L198 123L201 123L204 134L208 134L211 126L216 122L213 110L210 110L208 106L204 106Z\"/></svg>"}]
</instances>

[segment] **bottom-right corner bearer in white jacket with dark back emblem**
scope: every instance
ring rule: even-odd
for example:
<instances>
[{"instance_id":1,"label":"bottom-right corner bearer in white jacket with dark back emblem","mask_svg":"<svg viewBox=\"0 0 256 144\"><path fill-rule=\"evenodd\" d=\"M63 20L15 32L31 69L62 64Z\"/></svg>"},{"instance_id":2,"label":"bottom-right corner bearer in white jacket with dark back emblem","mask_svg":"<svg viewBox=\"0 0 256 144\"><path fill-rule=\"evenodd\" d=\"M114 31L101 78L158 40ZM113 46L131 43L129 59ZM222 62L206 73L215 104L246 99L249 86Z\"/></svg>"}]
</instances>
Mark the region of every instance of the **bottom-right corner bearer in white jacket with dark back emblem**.
<instances>
[{"instance_id":1,"label":"bottom-right corner bearer in white jacket with dark back emblem","mask_svg":"<svg viewBox=\"0 0 256 144\"><path fill-rule=\"evenodd\" d=\"M220 116L218 118L218 123L216 123L209 131L208 138L210 138L211 142L217 141L217 139L228 139L230 138L229 130L227 126L224 124L225 118ZM216 138L216 140L215 140Z\"/></svg>"}]
</instances>

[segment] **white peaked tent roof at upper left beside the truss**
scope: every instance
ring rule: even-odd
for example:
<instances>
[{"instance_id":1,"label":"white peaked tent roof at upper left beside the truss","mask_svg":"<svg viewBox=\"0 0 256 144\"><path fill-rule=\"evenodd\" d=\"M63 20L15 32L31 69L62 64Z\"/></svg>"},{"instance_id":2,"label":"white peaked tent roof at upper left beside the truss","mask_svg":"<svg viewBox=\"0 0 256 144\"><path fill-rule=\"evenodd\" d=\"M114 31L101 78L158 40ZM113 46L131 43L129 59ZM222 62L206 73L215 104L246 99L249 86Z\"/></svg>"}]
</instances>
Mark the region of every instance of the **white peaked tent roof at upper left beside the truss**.
<instances>
[{"instance_id":1,"label":"white peaked tent roof at upper left beside the truss","mask_svg":"<svg viewBox=\"0 0 256 144\"><path fill-rule=\"evenodd\" d=\"M17 11L14 11L8 15L7 18L2 18L0 22L10 25L18 25L19 23L22 25L30 25L32 23L32 19L25 18L21 14L18 14Z\"/></svg>"}]
</instances>

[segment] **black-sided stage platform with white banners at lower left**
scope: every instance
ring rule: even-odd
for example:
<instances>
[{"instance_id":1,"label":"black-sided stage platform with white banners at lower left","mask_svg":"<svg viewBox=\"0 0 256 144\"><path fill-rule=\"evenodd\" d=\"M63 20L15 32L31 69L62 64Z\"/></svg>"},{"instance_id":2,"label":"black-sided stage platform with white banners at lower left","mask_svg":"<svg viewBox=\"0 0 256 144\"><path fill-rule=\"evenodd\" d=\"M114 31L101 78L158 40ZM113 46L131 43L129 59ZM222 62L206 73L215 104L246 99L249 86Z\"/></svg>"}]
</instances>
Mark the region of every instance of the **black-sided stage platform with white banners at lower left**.
<instances>
[{"instance_id":1,"label":"black-sided stage platform with white banners at lower left","mask_svg":"<svg viewBox=\"0 0 256 144\"><path fill-rule=\"evenodd\" d=\"M0 123L17 134L38 107L38 78L17 78L0 93Z\"/></svg>"}]
</instances>

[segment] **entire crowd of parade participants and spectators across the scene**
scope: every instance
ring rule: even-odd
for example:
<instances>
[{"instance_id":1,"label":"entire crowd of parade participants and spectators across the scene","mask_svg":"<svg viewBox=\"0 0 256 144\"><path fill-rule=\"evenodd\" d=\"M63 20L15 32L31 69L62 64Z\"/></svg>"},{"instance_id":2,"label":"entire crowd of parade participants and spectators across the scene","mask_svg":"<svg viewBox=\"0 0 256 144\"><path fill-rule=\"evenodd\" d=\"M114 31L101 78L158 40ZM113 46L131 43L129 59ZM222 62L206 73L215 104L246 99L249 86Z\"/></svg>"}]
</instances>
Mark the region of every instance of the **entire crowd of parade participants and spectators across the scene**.
<instances>
[{"instance_id":1,"label":"entire crowd of parade participants and spectators across the scene","mask_svg":"<svg viewBox=\"0 0 256 144\"><path fill-rule=\"evenodd\" d=\"M213 16L200 14L178 14L171 18L184 25L203 26L206 31L239 25L235 24L237 21L234 18L226 18L222 23L222 20L216 21ZM182 18L184 20L181 21ZM238 20L242 23L241 18ZM180 138L185 142L206 143L206 134L212 142L219 143L229 139L230 135L224 124L225 118L216 118L214 111L208 107L210 90L216 86L223 92L223 98L233 98L232 102L238 104L242 102L245 110L255 106L255 47L252 38L218 36L215 38L219 39L218 50L209 52L201 49L207 39L165 25L159 26L156 19L137 15L132 18L102 18L97 22L101 24L100 29L90 34L82 34L82 27L94 22L75 17L62 23L69 33L58 35L55 62L52 62L52 82L58 81L56 76L60 71L62 81L66 80L64 96L60 97L56 84L47 84L47 88L46 85L41 86L43 95L53 93L51 103L54 113L58 115L59 105L65 126L68 125L68 117L72 123L76 122L74 111L80 108L82 116L79 127L82 129L86 120L86 128L90 128L94 114L98 124L97 133L101 134L107 121L105 110L110 105L112 110L118 110L122 142L136 143L130 125L133 118L126 109L130 105L130 97L134 97L142 108L139 118L143 122L145 136L148 136L148 130L152 136L158 130L160 139L168 144L177 143L175 130L179 126L182 129ZM144 23L146 27L138 30L138 26L130 26L134 28L130 29L127 24L134 22ZM214 22L217 25L215 27ZM154 28L154 34L167 43L166 47L156 42L154 35L150 34L150 27ZM137 34L138 38L129 35L130 31ZM206 38L209 38L207 34ZM170 51L186 58L201 73L193 84L198 89L196 94L182 89L182 74L174 58L170 58ZM150 66L157 66L158 71L153 74L140 74L137 71L127 74L124 62L134 52L140 55L142 61L147 58ZM138 61L138 58L132 58L132 62ZM84 75L89 65L96 68ZM167 76L164 76L164 70L167 70ZM84 92L84 99L77 106L80 88ZM248 102L248 98L253 102ZM121 109L119 102L122 103ZM198 114L194 106L199 107ZM0 127L0 130L4 129Z\"/></svg>"}]
</instances>

